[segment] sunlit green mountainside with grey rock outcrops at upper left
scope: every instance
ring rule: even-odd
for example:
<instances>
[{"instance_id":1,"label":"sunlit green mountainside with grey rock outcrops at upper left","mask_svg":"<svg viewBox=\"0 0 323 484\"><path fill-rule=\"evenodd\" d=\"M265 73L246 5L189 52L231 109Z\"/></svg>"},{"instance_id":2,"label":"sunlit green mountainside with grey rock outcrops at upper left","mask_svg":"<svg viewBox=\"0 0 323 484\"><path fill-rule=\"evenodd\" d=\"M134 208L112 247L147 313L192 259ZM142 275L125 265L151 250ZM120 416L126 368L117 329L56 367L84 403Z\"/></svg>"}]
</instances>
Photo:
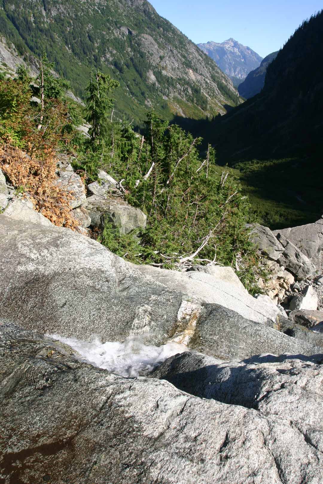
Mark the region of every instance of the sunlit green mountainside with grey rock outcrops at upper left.
<instances>
[{"instance_id":1,"label":"sunlit green mountainside with grey rock outcrops at upper left","mask_svg":"<svg viewBox=\"0 0 323 484\"><path fill-rule=\"evenodd\" d=\"M240 102L215 62L146 0L2 0L0 31L29 63L45 52L82 97L97 68L120 82L115 113L140 124L154 106L164 119L224 114Z\"/></svg>"}]
</instances>

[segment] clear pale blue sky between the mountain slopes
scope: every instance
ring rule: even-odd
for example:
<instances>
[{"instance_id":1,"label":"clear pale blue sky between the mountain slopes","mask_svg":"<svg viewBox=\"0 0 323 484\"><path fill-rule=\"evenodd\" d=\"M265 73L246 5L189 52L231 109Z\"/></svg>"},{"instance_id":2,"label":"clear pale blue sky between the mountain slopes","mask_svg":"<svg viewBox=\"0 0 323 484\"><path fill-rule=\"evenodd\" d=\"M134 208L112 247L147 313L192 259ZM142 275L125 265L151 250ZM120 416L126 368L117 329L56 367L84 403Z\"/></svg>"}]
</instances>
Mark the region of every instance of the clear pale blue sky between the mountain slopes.
<instances>
[{"instance_id":1,"label":"clear pale blue sky between the mountain slopes","mask_svg":"<svg viewBox=\"0 0 323 484\"><path fill-rule=\"evenodd\" d=\"M230 37L261 57L278 50L305 18L323 8L323 0L150 0L195 43Z\"/></svg>"}]
</instances>

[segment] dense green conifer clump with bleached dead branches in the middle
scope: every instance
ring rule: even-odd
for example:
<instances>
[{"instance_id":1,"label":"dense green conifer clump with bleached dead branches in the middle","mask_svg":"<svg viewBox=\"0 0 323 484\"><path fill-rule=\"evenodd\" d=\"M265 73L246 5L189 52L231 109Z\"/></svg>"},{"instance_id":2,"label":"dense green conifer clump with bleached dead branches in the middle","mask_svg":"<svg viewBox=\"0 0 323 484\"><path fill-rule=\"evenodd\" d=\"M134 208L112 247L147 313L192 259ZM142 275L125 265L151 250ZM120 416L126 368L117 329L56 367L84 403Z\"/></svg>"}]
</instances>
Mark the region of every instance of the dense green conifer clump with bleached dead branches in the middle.
<instances>
[{"instance_id":1,"label":"dense green conifer clump with bleached dead branches in the middle","mask_svg":"<svg viewBox=\"0 0 323 484\"><path fill-rule=\"evenodd\" d=\"M101 242L129 260L164 268L230 265L252 291L258 258L245 228L250 205L232 176L219 175L215 150L209 145L201 159L201 138L158 119L154 111L143 138L127 123L116 132L114 157L104 160L105 168L123 180L127 201L148 220L136 243L131 234L116 241L109 226Z\"/></svg>"}]
</instances>

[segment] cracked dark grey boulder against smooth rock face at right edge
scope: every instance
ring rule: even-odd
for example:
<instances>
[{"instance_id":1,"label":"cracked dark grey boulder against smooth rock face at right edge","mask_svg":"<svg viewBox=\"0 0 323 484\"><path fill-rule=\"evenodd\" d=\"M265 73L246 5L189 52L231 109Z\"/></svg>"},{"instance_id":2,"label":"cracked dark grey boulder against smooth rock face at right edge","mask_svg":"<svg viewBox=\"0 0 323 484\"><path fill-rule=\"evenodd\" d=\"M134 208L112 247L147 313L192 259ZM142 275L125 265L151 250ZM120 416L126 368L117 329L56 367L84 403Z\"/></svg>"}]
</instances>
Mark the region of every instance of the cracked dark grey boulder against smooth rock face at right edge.
<instances>
[{"instance_id":1,"label":"cracked dark grey boulder against smooth rock face at right edge","mask_svg":"<svg viewBox=\"0 0 323 484\"><path fill-rule=\"evenodd\" d=\"M297 280L306 279L315 272L315 266L292 242L286 239L281 233L277 234L277 239L284 247L277 262L292 272Z\"/></svg>"}]
</instances>

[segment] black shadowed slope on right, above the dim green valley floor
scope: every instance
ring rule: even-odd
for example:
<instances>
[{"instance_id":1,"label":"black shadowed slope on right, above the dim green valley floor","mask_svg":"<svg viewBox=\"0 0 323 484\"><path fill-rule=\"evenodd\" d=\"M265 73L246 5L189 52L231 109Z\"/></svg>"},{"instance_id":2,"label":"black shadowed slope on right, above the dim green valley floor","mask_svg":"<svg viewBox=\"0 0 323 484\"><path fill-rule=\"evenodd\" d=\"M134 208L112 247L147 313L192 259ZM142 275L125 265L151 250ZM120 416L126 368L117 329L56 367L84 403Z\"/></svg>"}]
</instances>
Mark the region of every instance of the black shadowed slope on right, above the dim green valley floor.
<instances>
[{"instance_id":1,"label":"black shadowed slope on right, above the dim green valley floor","mask_svg":"<svg viewBox=\"0 0 323 484\"><path fill-rule=\"evenodd\" d=\"M304 21L278 52L261 93L216 122L221 157L233 161L321 149L322 57L323 11Z\"/></svg>"}]
</instances>

